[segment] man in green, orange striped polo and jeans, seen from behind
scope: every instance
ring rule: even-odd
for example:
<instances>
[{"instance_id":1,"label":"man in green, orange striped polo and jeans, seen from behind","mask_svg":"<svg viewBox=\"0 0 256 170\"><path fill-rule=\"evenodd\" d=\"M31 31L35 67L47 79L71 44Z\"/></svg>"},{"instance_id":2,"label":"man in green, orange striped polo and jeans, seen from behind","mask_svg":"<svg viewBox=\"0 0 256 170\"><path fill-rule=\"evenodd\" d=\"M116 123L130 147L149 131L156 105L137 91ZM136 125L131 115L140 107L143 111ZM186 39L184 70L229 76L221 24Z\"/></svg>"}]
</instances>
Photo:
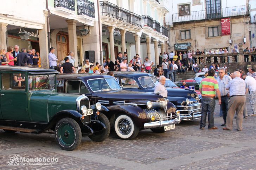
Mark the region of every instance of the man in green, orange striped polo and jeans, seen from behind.
<instances>
[{"instance_id":1,"label":"man in green, orange striped polo and jeans, seen from behind","mask_svg":"<svg viewBox=\"0 0 256 170\"><path fill-rule=\"evenodd\" d=\"M218 129L214 126L213 111L215 109L215 95L217 94L219 104L221 104L220 92L217 80L214 79L215 70L211 69L208 76L204 78L199 86L202 94L202 116L200 121L200 129L204 129L206 124L206 116L208 112L208 129Z\"/></svg>"}]
</instances>

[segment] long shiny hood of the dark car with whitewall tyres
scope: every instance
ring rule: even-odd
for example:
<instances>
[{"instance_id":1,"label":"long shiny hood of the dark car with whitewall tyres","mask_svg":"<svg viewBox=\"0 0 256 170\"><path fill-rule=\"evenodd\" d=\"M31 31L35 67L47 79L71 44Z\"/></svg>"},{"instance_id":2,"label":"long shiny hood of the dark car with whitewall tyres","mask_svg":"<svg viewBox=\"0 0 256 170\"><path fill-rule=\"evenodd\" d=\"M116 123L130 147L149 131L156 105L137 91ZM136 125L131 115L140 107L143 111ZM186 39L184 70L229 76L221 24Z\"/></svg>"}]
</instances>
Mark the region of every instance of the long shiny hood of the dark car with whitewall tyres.
<instances>
[{"instance_id":1,"label":"long shiny hood of the dark car with whitewall tyres","mask_svg":"<svg viewBox=\"0 0 256 170\"><path fill-rule=\"evenodd\" d=\"M154 90L152 91L154 92ZM164 98L159 94L142 93L130 90L111 90L96 92L98 98L122 99L122 100L150 100L150 101L164 101Z\"/></svg>"}]
</instances>

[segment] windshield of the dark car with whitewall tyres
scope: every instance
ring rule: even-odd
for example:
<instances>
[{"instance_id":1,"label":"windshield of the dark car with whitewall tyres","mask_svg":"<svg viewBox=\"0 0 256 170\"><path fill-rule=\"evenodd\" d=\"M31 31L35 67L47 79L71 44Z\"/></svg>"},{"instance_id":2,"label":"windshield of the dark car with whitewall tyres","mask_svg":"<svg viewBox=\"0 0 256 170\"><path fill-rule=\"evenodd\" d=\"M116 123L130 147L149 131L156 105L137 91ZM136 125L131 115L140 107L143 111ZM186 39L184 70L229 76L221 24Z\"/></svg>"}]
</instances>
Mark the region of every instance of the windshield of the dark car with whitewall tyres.
<instances>
[{"instance_id":1,"label":"windshield of the dark car with whitewall tyres","mask_svg":"<svg viewBox=\"0 0 256 170\"><path fill-rule=\"evenodd\" d=\"M122 89L116 79L103 78L87 80L92 91L117 90Z\"/></svg>"}]
</instances>

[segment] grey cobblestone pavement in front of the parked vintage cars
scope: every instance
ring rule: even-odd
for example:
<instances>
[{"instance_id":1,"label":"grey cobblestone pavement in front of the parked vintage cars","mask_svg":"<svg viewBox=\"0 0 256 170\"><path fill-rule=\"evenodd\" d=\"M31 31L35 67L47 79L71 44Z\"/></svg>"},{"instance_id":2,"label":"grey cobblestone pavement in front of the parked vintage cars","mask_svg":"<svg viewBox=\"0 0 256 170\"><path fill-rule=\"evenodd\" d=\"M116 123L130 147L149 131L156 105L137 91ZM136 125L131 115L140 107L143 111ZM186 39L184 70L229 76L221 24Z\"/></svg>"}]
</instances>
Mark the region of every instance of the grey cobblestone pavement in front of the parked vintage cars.
<instances>
[{"instance_id":1,"label":"grey cobblestone pavement in front of the parked vintage cars","mask_svg":"<svg viewBox=\"0 0 256 170\"><path fill-rule=\"evenodd\" d=\"M216 101L216 103L218 103ZM248 113L251 113L247 97ZM200 120L181 122L162 134L140 131L130 141L120 140L111 131L103 142L88 137L74 151L63 151L51 134L7 134L0 130L0 169L256 169L256 116L243 120L243 130L224 131L219 105L215 108L217 130L199 130ZM7 166L19 154L26 158L58 158L50 165Z\"/></svg>"}]
</instances>

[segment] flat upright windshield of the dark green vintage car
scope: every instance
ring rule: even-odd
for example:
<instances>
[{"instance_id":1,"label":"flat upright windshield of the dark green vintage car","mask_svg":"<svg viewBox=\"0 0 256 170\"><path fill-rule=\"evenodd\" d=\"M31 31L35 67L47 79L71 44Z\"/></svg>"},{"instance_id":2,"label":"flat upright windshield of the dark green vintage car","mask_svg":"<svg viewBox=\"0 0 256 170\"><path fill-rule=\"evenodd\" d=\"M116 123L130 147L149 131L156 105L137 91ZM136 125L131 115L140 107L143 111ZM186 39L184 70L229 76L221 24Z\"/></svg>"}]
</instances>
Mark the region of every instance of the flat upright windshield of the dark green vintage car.
<instances>
[{"instance_id":1,"label":"flat upright windshield of the dark green vintage car","mask_svg":"<svg viewBox=\"0 0 256 170\"><path fill-rule=\"evenodd\" d=\"M55 75L28 76L29 90L55 90Z\"/></svg>"}]
</instances>

